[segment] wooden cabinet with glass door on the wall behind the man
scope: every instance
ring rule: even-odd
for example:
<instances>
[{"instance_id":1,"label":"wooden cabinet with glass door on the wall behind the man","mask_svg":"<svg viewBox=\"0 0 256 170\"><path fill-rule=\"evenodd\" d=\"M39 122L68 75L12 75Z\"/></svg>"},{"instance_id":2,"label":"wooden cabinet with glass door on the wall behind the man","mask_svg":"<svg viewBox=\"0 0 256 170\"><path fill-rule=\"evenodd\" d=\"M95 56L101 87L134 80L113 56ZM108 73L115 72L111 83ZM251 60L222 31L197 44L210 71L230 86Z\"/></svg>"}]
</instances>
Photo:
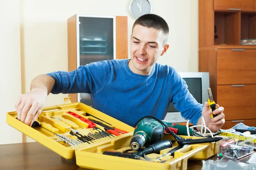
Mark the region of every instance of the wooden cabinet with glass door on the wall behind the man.
<instances>
[{"instance_id":1,"label":"wooden cabinet with glass door on the wall behind the man","mask_svg":"<svg viewBox=\"0 0 256 170\"><path fill-rule=\"evenodd\" d=\"M76 14L67 20L68 71L80 65L128 58L128 22L122 16ZM91 104L90 94L69 94L72 102Z\"/></svg>"}]
</instances>

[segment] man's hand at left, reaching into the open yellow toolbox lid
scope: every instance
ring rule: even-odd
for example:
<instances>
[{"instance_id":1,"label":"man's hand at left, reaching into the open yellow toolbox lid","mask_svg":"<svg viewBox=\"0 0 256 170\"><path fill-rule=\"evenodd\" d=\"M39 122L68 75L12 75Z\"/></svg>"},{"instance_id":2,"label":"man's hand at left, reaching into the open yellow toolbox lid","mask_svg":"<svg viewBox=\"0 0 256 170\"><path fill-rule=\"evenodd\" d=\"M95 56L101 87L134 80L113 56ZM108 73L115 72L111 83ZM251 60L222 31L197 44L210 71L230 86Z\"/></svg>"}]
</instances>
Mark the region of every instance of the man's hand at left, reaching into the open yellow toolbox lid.
<instances>
[{"instance_id":1,"label":"man's hand at left, reaching into the open yellow toolbox lid","mask_svg":"<svg viewBox=\"0 0 256 170\"><path fill-rule=\"evenodd\" d=\"M47 91L34 88L31 92L22 94L15 103L17 119L31 126L44 108Z\"/></svg>"}]
</instances>

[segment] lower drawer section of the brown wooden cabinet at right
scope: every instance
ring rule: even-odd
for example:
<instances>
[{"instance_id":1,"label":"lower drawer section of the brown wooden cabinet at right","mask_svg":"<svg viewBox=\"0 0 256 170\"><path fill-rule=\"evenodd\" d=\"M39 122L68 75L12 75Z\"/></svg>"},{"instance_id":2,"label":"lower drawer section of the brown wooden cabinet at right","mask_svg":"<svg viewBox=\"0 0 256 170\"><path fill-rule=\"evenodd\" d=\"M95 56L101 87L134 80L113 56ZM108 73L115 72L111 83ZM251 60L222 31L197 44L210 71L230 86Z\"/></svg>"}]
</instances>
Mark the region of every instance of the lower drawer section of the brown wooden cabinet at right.
<instances>
[{"instance_id":1,"label":"lower drawer section of the brown wooden cabinet at right","mask_svg":"<svg viewBox=\"0 0 256 170\"><path fill-rule=\"evenodd\" d=\"M215 102L224 107L226 123L231 128L239 122L256 122L256 49L199 50L199 71L209 72ZM248 124L247 124L248 123Z\"/></svg>"}]
</instances>

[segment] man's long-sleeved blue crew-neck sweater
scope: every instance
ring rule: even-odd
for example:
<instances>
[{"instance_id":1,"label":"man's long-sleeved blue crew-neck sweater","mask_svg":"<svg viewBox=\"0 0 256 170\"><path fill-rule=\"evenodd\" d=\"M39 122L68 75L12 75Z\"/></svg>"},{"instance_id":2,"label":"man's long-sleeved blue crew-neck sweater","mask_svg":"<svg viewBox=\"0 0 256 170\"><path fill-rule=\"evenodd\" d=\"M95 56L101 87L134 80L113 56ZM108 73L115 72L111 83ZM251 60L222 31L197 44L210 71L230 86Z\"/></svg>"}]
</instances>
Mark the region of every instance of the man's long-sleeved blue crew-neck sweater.
<instances>
[{"instance_id":1,"label":"man's long-sleeved blue crew-neck sweater","mask_svg":"<svg viewBox=\"0 0 256 170\"><path fill-rule=\"evenodd\" d=\"M168 65L156 63L151 74L144 76L130 70L128 59L113 59L47 75L55 79L52 94L88 93L93 108L132 127L143 116L164 119L171 102L194 125L201 117L203 105Z\"/></svg>"}]
</instances>

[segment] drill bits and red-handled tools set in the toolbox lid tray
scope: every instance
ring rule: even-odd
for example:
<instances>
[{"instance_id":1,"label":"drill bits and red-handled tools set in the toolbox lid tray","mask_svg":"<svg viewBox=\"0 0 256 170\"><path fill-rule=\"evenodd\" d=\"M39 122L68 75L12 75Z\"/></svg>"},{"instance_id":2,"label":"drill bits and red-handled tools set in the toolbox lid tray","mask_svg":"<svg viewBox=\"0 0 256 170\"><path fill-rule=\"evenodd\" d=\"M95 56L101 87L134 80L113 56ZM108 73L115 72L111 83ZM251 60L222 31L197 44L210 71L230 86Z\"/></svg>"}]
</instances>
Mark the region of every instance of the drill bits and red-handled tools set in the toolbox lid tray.
<instances>
[{"instance_id":1,"label":"drill bits and red-handled tools set in the toolbox lid tray","mask_svg":"<svg viewBox=\"0 0 256 170\"><path fill-rule=\"evenodd\" d=\"M86 116L84 111L76 112L79 112L79 114L62 110L44 111L38 116L38 120L32 123L32 127L66 147L75 148L102 142L120 136L120 133L128 133L125 130L111 127L111 124L106 125L107 122L103 123L91 114Z\"/></svg>"}]
</instances>

